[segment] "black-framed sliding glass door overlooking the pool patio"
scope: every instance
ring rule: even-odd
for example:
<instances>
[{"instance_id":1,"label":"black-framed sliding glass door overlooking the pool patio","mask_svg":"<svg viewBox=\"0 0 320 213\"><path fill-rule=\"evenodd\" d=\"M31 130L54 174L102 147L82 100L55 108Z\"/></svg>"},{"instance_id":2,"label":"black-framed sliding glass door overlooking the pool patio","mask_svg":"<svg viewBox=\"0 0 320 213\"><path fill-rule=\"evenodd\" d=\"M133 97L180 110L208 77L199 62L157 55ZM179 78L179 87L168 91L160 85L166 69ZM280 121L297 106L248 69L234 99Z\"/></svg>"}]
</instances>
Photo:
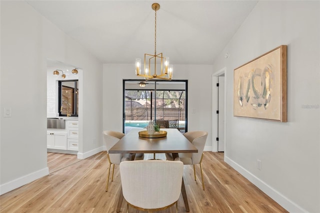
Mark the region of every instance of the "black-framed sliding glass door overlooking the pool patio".
<instances>
[{"instance_id":1,"label":"black-framed sliding glass door overlooking the pool patio","mask_svg":"<svg viewBox=\"0 0 320 213\"><path fill-rule=\"evenodd\" d=\"M187 80L123 80L123 132L156 120L187 130Z\"/></svg>"}]
</instances>

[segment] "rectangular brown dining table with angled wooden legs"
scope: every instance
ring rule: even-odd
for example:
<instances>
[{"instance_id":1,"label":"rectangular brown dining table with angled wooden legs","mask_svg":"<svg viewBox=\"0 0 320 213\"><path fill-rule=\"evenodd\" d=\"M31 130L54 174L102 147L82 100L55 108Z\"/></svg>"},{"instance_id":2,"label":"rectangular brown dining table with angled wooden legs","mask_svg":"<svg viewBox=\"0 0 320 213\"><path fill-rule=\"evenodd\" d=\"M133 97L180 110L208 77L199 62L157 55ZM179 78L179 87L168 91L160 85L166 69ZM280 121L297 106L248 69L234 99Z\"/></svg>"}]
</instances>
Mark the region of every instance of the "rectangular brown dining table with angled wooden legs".
<instances>
[{"instance_id":1,"label":"rectangular brown dining table with angled wooden legs","mask_svg":"<svg viewBox=\"0 0 320 213\"><path fill-rule=\"evenodd\" d=\"M196 147L190 143L177 129L163 128L162 132L166 132L165 137L143 137L139 136L139 132L145 131L142 128L131 129L116 144L114 144L109 153L171 153L173 159L178 157L178 153L197 153ZM182 177L181 194L184 202L185 211L189 212L185 186ZM118 198L116 212L120 212L123 201L122 188Z\"/></svg>"}]
</instances>

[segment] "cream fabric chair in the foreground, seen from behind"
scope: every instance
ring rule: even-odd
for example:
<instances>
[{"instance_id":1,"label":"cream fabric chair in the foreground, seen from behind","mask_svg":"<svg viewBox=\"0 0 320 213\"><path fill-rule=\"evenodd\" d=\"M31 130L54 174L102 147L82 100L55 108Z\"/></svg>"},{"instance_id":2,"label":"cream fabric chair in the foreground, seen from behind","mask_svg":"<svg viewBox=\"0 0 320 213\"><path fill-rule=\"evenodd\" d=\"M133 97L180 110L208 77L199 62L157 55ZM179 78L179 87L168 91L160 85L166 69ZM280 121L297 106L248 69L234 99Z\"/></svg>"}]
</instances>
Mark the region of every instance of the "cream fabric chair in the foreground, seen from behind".
<instances>
[{"instance_id":1,"label":"cream fabric chair in the foreground, seen from behind","mask_svg":"<svg viewBox=\"0 0 320 213\"><path fill-rule=\"evenodd\" d=\"M180 161L125 161L120 163L123 198L128 207L154 212L170 208L181 193L183 163Z\"/></svg>"}]
</instances>

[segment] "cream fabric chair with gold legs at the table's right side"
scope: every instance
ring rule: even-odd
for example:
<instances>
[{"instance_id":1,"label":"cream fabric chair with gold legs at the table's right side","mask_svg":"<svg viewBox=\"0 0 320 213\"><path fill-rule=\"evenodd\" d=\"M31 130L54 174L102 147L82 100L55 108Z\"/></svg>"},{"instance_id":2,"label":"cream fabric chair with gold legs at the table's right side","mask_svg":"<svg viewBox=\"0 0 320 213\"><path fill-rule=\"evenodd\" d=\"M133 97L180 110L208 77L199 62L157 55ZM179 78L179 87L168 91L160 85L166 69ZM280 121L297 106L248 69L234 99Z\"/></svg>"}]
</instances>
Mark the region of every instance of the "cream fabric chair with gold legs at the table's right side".
<instances>
[{"instance_id":1,"label":"cream fabric chair with gold legs at the table's right side","mask_svg":"<svg viewBox=\"0 0 320 213\"><path fill-rule=\"evenodd\" d=\"M195 164L200 164L200 171L201 171L201 179L202 179L202 189L204 190L204 183L203 183L203 175L202 175L202 158L203 158L203 149L205 145L206 138L208 136L207 132L204 131L191 131L186 132L183 134L188 141L190 141L198 150L197 153L179 153L180 161L183 162L184 165L193 165L193 173L194 173L194 180L195 178ZM171 154L165 154L167 160L172 161Z\"/></svg>"}]
</instances>

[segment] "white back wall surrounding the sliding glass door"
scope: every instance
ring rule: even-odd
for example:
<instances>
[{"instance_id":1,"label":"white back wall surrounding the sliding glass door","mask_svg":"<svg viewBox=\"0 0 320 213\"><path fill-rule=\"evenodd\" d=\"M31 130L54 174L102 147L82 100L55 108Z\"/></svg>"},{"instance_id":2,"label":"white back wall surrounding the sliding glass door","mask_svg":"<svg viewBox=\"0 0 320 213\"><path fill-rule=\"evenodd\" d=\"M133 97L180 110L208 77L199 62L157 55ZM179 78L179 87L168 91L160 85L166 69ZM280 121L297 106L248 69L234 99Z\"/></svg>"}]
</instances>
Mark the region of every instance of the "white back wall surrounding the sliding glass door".
<instances>
[{"instance_id":1,"label":"white back wall surrounding the sliding glass door","mask_svg":"<svg viewBox=\"0 0 320 213\"><path fill-rule=\"evenodd\" d=\"M173 79L188 80L188 131L208 132L206 150L211 150L211 75L211 65L174 64ZM122 79L136 79L134 63L103 64L104 130L122 132Z\"/></svg>"}]
</instances>

